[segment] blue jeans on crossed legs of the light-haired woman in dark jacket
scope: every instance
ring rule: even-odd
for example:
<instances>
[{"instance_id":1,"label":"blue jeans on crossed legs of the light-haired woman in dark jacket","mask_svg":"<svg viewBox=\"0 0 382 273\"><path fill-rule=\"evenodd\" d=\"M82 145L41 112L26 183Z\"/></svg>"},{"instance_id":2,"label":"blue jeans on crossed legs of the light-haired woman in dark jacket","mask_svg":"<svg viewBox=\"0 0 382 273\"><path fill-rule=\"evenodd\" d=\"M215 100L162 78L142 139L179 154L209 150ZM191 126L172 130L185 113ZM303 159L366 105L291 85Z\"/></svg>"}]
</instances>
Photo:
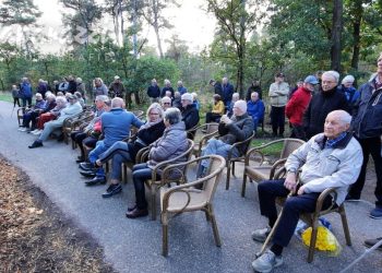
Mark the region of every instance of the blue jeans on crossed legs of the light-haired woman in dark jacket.
<instances>
[{"instance_id":1,"label":"blue jeans on crossed legs of the light-haired woman in dark jacket","mask_svg":"<svg viewBox=\"0 0 382 273\"><path fill-rule=\"evenodd\" d=\"M110 158L112 158L110 178L121 180L122 163L131 162L128 143L124 141L117 141L98 157L102 163L107 162Z\"/></svg>"}]
</instances>

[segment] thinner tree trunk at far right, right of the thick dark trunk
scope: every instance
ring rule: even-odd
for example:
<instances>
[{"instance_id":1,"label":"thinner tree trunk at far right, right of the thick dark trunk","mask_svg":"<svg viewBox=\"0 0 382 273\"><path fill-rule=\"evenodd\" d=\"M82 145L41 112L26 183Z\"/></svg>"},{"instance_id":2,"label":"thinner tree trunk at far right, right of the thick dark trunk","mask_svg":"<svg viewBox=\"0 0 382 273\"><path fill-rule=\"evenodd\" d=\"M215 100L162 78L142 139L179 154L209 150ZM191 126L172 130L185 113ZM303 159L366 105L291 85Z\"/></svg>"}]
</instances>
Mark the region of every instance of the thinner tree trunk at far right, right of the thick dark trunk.
<instances>
[{"instance_id":1,"label":"thinner tree trunk at far right, right of the thick dark trunk","mask_svg":"<svg viewBox=\"0 0 382 273\"><path fill-rule=\"evenodd\" d=\"M361 47L360 45L361 21L363 16L363 8L362 8L361 0L355 1L354 15L355 15L355 21L353 23L354 46L353 46L353 56L351 56L351 68L355 70L358 70L359 51Z\"/></svg>"}]
</instances>

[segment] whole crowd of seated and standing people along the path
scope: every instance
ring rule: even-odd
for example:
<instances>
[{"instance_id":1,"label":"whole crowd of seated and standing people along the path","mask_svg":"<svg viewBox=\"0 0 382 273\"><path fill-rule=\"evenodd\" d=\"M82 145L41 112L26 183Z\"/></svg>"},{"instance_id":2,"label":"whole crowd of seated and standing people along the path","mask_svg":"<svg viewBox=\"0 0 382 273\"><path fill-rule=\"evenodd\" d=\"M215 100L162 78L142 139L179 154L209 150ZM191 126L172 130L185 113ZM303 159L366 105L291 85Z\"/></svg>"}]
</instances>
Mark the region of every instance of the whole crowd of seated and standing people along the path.
<instances>
[{"instance_id":1,"label":"whole crowd of seated and standing people along the path","mask_svg":"<svg viewBox=\"0 0 382 273\"><path fill-rule=\"evenodd\" d=\"M270 86L267 95L273 136L284 138L287 117L291 127L290 136L306 143L287 158L285 179L259 183L260 210L267 217L268 226L252 234L256 241L264 241L275 225L276 197L295 193L286 201L279 225L275 227L273 245L252 263L259 272L268 272L283 263L282 251L294 234L299 214L314 211L320 192L334 187L337 192L336 205L345 200L360 199L369 155L373 157L377 174L377 202L370 217L382 218L382 55L378 59L377 73L358 90L353 75L344 76L342 82L339 79L338 72L325 71L308 75L298 82L295 90L290 90L285 74L278 72ZM81 82L79 78L68 76L61 83L55 83L55 92L48 87L37 88L36 103L24 112L23 124L19 129L39 135L31 149L43 146L43 142L52 133L60 138L63 120L83 111L80 100L85 97L84 92L79 90ZM41 80L38 86L44 84L48 85ZM151 105L142 118L126 109L122 99L126 88L119 76L115 76L109 87L96 78L93 119L71 135L81 151L76 158L80 173L89 178L84 182L86 186L105 185L107 178L103 165L111 161L109 186L103 198L122 191L121 164L133 164L135 203L128 207L126 216L129 218L148 214L145 180L152 177L157 164L187 151L187 139L194 136L192 129L200 123L196 94L190 93L181 81L178 81L176 91L169 80L165 80L164 85L160 88L157 81L152 80L147 88ZM205 122L218 123L218 136L208 140L202 155L227 157L235 143L246 140L260 123L264 123L266 105L262 98L265 94L258 80L252 81L246 99L240 99L227 78L222 83L211 80L210 85L214 91L213 107L206 112ZM23 106L32 104L32 86L26 78L19 87L12 86L12 94L23 100ZM150 147L147 162L135 164L136 154L144 147ZM243 155L243 151L246 149L242 146L236 147L234 156ZM207 167L208 161L202 161L198 176L204 176ZM160 177L160 174L157 175ZM331 203L332 199L329 198L324 206Z\"/></svg>"}]
</instances>

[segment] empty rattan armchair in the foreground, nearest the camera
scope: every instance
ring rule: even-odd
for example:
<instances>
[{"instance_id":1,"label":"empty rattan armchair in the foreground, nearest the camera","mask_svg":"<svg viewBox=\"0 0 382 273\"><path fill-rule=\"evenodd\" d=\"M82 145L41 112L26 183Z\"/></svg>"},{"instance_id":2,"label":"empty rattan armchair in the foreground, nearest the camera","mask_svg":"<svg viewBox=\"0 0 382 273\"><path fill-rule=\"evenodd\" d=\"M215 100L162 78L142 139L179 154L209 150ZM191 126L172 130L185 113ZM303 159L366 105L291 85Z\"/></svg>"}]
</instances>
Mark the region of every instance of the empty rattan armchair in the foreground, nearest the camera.
<instances>
[{"instance_id":1,"label":"empty rattan armchair in the foreground, nearest the camera","mask_svg":"<svg viewBox=\"0 0 382 273\"><path fill-rule=\"evenodd\" d=\"M208 155L190 162L169 165L164 169L163 183L166 183L164 179L171 170L186 168L186 166L200 163L202 159L210 159L206 176L193 182L160 189L160 218L163 227L162 254L165 257L168 253L168 222L171 219L171 216L174 217L183 212L204 211L206 219L211 221L215 244L217 247L222 246L213 210L213 198L217 183L220 180L222 171L226 165L225 159L219 155ZM203 185L201 190L194 188L199 185Z\"/></svg>"}]
</instances>

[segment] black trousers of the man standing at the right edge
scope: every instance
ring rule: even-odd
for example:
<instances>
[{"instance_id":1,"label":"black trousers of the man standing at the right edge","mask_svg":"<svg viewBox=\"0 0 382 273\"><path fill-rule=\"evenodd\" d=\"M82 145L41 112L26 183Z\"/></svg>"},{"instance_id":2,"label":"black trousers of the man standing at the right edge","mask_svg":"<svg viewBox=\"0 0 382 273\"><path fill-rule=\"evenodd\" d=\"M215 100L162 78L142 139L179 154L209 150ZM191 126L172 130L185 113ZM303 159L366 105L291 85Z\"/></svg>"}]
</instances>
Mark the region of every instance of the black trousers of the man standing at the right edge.
<instances>
[{"instance_id":1,"label":"black trousers of the man standing at the right edge","mask_svg":"<svg viewBox=\"0 0 382 273\"><path fill-rule=\"evenodd\" d=\"M377 187L375 187L375 205L382 207L382 156L381 156L381 139L380 136L370 139L358 139L359 144L362 147L363 163L361 171L357 181L350 186L349 194L353 198L360 198L365 186L366 170L368 167L369 155L371 154L374 161L374 168L377 174Z\"/></svg>"}]
</instances>

